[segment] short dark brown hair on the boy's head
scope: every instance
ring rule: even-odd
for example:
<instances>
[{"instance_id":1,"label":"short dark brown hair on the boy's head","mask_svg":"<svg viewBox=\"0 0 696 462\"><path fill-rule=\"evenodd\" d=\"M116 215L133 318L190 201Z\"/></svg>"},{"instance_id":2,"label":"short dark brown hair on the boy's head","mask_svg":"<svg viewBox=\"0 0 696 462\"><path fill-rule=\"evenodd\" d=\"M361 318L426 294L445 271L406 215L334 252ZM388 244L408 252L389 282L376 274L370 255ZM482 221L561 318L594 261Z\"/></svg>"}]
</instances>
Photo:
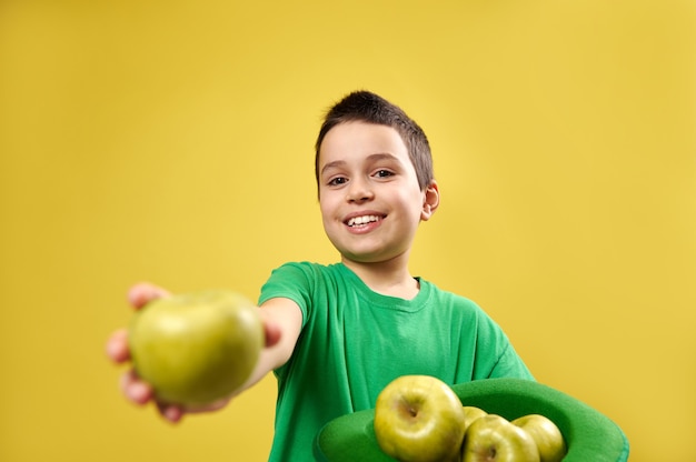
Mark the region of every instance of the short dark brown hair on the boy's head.
<instances>
[{"instance_id":1,"label":"short dark brown hair on the boy's head","mask_svg":"<svg viewBox=\"0 0 696 462\"><path fill-rule=\"evenodd\" d=\"M418 185L425 190L435 178L430 144L422 129L399 107L369 91L355 91L334 104L324 118L315 145L315 177L319 185L319 149L334 127L346 122L366 122L387 125L399 132L408 157L416 169Z\"/></svg>"}]
</instances>

